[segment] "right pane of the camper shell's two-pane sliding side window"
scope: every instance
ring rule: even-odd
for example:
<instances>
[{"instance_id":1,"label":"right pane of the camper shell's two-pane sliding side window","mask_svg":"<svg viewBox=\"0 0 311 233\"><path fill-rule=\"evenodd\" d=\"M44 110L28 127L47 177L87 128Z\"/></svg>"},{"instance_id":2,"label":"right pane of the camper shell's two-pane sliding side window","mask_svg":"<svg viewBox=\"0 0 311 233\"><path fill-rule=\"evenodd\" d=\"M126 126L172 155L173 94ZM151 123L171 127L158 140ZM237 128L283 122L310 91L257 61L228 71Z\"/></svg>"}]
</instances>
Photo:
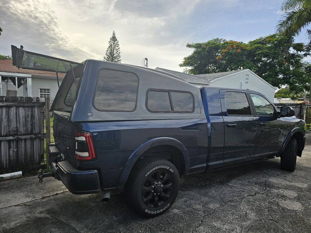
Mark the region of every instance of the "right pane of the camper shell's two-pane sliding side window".
<instances>
[{"instance_id":1,"label":"right pane of the camper shell's two-pane sliding side window","mask_svg":"<svg viewBox=\"0 0 311 233\"><path fill-rule=\"evenodd\" d=\"M193 96L190 93L171 92L174 112L192 112Z\"/></svg>"}]
</instances>

